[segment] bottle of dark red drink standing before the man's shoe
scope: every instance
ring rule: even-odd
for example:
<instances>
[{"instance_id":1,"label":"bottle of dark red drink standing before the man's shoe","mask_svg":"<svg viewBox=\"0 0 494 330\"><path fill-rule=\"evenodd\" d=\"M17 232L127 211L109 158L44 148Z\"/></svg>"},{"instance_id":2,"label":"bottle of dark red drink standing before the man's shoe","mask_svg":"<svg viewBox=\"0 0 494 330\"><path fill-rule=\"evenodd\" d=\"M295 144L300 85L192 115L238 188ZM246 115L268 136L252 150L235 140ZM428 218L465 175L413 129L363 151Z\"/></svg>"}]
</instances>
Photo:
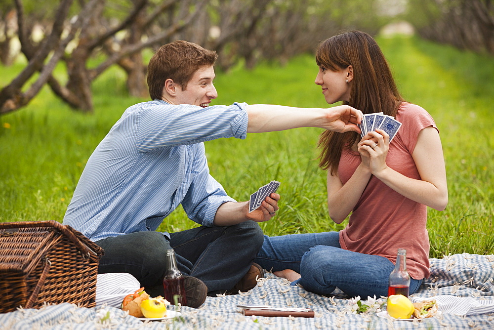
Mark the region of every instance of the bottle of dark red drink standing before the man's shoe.
<instances>
[{"instance_id":1,"label":"bottle of dark red drink standing before the man's shoe","mask_svg":"<svg viewBox=\"0 0 494 330\"><path fill-rule=\"evenodd\" d=\"M182 306L187 305L185 297L185 284L182 273L177 268L177 259L175 258L175 250L169 248L166 250L166 263L168 269L163 278L163 287L165 289L165 299L171 304L180 303ZM175 303L175 298L177 299Z\"/></svg>"}]
</instances>

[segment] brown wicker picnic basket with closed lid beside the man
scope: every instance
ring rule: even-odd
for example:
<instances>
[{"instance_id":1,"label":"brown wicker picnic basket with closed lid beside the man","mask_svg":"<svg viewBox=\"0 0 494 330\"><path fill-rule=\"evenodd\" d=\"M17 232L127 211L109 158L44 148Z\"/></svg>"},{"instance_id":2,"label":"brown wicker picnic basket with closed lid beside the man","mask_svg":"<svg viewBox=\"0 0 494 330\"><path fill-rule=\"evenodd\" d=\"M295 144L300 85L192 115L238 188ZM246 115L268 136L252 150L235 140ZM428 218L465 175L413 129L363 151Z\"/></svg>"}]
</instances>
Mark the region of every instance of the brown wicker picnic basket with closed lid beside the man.
<instances>
[{"instance_id":1,"label":"brown wicker picnic basket with closed lid beside the man","mask_svg":"<svg viewBox=\"0 0 494 330\"><path fill-rule=\"evenodd\" d=\"M94 307L103 249L56 221L0 223L0 313L70 302Z\"/></svg>"}]
</instances>

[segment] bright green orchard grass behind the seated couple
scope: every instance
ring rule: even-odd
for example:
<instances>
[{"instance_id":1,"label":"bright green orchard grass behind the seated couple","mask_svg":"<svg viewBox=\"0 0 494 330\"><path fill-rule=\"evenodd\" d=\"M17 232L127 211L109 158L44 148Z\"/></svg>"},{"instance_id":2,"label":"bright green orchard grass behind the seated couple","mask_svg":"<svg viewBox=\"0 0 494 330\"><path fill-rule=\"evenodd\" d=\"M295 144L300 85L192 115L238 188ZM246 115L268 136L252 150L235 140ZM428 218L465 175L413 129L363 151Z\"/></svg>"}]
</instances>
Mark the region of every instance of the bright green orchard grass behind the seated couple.
<instances>
[{"instance_id":1,"label":"bright green orchard grass behind the seated couple","mask_svg":"<svg viewBox=\"0 0 494 330\"><path fill-rule=\"evenodd\" d=\"M429 111L441 132L450 200L445 211L429 209L430 256L493 253L494 58L415 38L378 42L405 98ZM21 69L0 67L0 83ZM253 71L217 72L214 103L326 107L316 73L312 55L285 67L265 63ZM124 109L141 101L127 95L117 69L93 90L93 115L70 110L43 89L28 107L0 118L0 221L62 220L91 152ZM211 174L239 201L270 180L282 182L278 216L261 225L268 235L340 230L346 221L329 219L326 173L315 160L320 132L299 128L207 142ZM179 208L160 230L193 226Z\"/></svg>"}]
</instances>

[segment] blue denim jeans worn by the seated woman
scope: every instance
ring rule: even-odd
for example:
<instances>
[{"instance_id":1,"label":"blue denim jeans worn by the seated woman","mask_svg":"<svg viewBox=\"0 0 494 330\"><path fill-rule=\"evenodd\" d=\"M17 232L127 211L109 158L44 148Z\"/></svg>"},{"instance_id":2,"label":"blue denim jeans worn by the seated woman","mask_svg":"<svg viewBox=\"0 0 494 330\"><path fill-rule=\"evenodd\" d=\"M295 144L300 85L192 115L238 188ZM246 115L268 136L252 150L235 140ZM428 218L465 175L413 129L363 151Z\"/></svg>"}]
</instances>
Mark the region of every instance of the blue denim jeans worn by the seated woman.
<instances>
[{"instance_id":1,"label":"blue denim jeans worn by the seated woman","mask_svg":"<svg viewBox=\"0 0 494 330\"><path fill-rule=\"evenodd\" d=\"M292 285L298 283L308 291L329 294L338 287L362 299L374 294L387 296L389 274L395 267L385 257L342 249L338 232L264 236L254 262L268 271L291 269L300 273L302 277ZM411 279L410 294L421 283Z\"/></svg>"}]
</instances>

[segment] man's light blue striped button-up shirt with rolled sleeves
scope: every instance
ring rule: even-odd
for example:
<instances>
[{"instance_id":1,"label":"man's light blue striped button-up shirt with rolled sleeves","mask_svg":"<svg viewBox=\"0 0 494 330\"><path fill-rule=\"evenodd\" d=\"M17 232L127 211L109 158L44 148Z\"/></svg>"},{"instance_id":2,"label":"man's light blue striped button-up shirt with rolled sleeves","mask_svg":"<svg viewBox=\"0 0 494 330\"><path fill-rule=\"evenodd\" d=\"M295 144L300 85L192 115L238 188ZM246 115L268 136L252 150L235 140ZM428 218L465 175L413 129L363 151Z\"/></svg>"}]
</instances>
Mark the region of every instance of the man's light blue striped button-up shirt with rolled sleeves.
<instances>
[{"instance_id":1,"label":"man's light blue striped button-up shirt with rolled sleeves","mask_svg":"<svg viewBox=\"0 0 494 330\"><path fill-rule=\"evenodd\" d=\"M203 142L245 139L246 105L129 107L89 157L63 223L98 241L154 231L182 204L190 219L211 226L218 207L235 200L209 174Z\"/></svg>"}]
</instances>

